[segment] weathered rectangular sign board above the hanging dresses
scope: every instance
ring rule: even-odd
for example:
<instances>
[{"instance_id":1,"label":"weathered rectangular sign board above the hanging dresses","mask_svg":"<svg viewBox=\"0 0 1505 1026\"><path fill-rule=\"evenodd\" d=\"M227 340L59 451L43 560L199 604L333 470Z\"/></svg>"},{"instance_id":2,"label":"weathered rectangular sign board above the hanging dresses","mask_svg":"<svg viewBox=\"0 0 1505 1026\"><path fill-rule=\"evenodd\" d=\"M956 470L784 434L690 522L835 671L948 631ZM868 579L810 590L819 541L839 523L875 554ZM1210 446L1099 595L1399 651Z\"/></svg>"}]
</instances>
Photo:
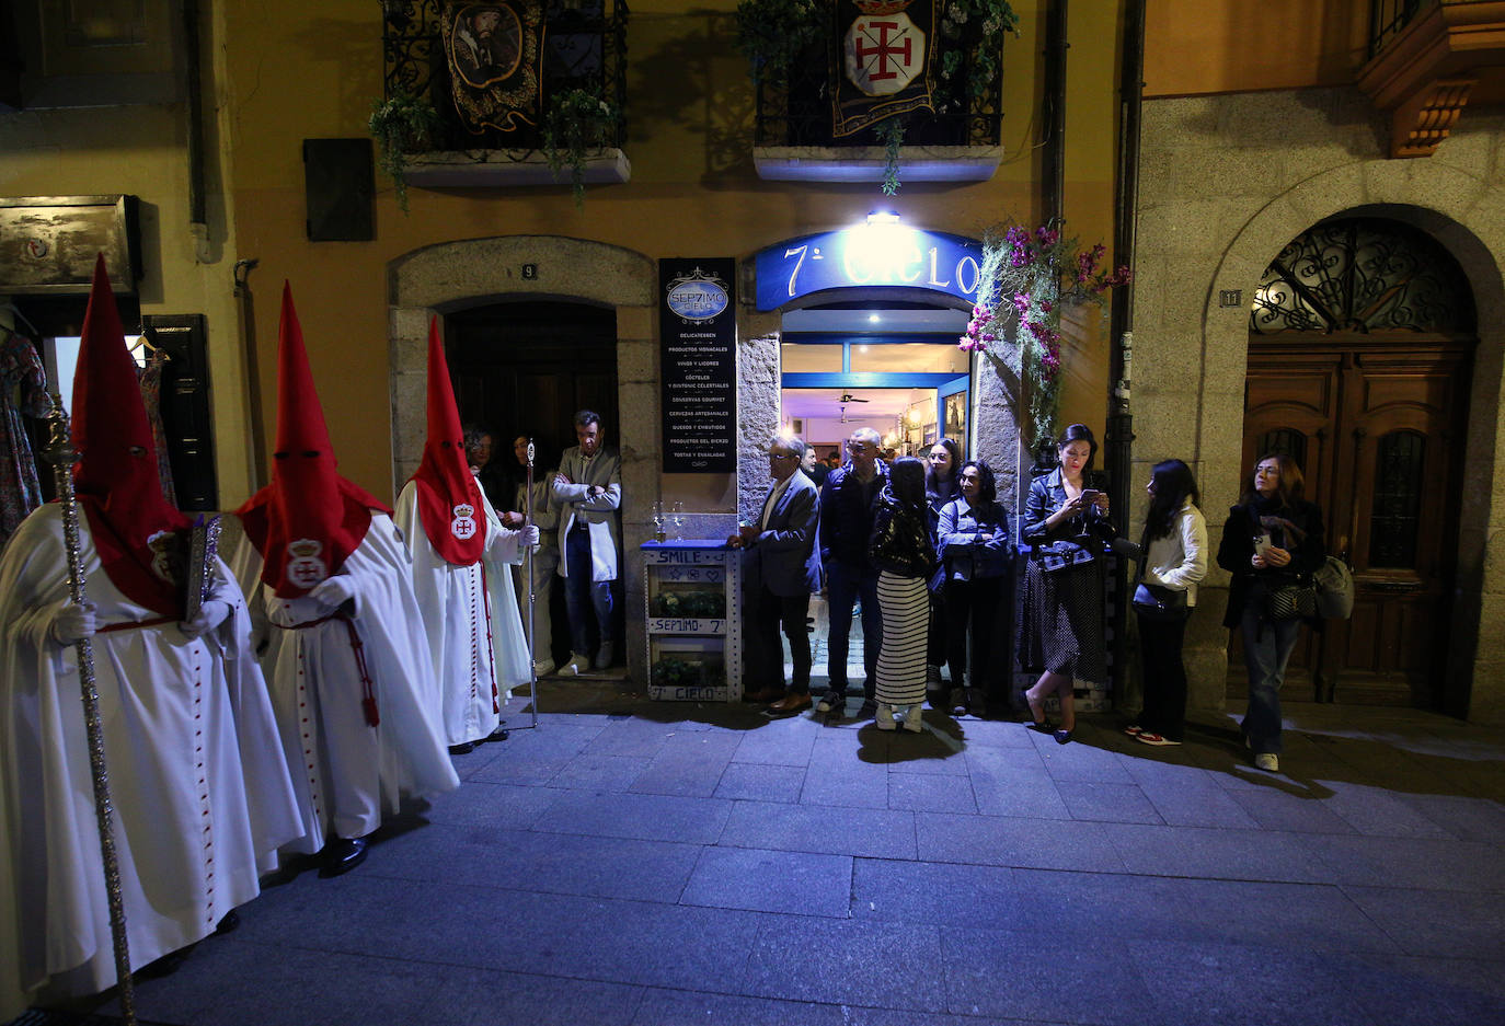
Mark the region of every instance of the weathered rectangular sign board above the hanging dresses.
<instances>
[{"instance_id":1,"label":"weathered rectangular sign board above the hanging dresses","mask_svg":"<svg viewBox=\"0 0 1505 1026\"><path fill-rule=\"evenodd\" d=\"M101 253L116 295L134 295L137 206L134 196L0 199L0 295L87 295Z\"/></svg>"}]
</instances>

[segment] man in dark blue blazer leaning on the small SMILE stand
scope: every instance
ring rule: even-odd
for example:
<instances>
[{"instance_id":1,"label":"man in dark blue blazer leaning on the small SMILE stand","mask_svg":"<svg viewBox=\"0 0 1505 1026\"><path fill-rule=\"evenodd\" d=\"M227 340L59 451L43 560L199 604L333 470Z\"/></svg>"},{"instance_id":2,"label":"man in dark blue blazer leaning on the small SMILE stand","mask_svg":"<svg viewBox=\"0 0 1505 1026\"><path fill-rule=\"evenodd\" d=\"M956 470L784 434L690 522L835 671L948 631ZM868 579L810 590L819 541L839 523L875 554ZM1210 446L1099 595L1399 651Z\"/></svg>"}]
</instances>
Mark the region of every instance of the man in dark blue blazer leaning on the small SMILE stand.
<instances>
[{"instance_id":1,"label":"man in dark blue blazer leaning on the small SMILE stand","mask_svg":"<svg viewBox=\"0 0 1505 1026\"><path fill-rule=\"evenodd\" d=\"M743 561L748 596L746 701L772 703L769 709L793 713L810 709L810 593L820 588L816 525L820 495L801 471L805 444L775 438L768 450L774 478L757 524L743 525L728 542L746 549ZM784 645L789 638L795 678L784 688Z\"/></svg>"}]
</instances>

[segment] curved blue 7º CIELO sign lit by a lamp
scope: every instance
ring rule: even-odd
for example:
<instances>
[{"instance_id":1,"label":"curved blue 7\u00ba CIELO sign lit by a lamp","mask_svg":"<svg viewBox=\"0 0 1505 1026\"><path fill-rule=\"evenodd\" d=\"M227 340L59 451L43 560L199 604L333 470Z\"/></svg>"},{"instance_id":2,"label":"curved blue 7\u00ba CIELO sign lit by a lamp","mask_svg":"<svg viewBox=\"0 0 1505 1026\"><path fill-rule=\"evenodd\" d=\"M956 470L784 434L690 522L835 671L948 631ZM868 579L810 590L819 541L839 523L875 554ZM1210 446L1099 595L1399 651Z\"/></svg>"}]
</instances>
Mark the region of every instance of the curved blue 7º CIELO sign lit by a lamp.
<instances>
[{"instance_id":1,"label":"curved blue 7\u00ba CIELO sign lit by a lamp","mask_svg":"<svg viewBox=\"0 0 1505 1026\"><path fill-rule=\"evenodd\" d=\"M983 244L900 224L864 224L789 239L756 257L757 308L825 289L912 287L977 301Z\"/></svg>"}]
</instances>

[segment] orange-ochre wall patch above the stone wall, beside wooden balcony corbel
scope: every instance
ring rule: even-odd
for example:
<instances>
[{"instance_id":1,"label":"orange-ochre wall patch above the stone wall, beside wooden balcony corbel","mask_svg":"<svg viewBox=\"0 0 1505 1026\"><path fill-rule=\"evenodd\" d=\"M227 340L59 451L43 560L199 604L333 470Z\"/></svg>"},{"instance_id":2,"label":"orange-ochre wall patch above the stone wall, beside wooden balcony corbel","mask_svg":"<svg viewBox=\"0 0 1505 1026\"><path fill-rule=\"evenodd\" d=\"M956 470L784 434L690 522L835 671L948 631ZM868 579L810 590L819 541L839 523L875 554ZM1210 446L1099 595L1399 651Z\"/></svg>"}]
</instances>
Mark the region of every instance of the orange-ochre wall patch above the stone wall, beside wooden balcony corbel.
<instances>
[{"instance_id":1,"label":"orange-ochre wall patch above the stone wall, beside wooden balcony corbel","mask_svg":"<svg viewBox=\"0 0 1505 1026\"><path fill-rule=\"evenodd\" d=\"M1348 84L1368 30L1370 0L1148 0L1145 96Z\"/></svg>"}]
</instances>

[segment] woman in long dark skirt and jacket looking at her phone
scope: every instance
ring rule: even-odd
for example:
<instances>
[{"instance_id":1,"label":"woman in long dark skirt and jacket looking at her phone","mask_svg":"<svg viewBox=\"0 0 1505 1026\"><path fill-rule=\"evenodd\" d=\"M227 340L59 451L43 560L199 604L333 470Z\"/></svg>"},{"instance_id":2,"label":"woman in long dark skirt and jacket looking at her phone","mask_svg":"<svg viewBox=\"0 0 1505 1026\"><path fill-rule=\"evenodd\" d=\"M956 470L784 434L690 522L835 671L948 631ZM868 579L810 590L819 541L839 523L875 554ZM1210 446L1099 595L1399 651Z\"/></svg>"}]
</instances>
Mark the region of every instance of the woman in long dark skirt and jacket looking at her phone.
<instances>
[{"instance_id":1,"label":"woman in long dark skirt and jacket looking at her phone","mask_svg":"<svg viewBox=\"0 0 1505 1026\"><path fill-rule=\"evenodd\" d=\"M1093 474L1097 439L1087 424L1072 424L1057 439L1061 465L1029 483L1020 540L1031 545L1025 567L1023 617L1019 629L1019 665L1041 669L1034 688L1023 692L1029 727L1049 730L1044 701L1061 697L1066 745L1076 730L1072 681L1108 681L1108 645L1103 630L1103 534L1108 493Z\"/></svg>"}]
</instances>

